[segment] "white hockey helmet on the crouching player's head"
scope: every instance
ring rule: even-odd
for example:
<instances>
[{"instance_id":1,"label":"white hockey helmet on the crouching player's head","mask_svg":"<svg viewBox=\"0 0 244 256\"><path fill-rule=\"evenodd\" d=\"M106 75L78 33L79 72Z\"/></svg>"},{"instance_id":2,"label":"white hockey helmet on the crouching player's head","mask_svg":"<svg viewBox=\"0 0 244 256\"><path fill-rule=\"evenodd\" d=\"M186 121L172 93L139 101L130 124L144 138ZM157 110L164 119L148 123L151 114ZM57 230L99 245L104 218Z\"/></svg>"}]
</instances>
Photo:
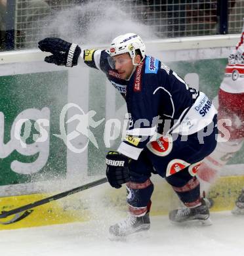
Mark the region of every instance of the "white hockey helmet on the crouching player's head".
<instances>
[{"instance_id":1,"label":"white hockey helmet on the crouching player's head","mask_svg":"<svg viewBox=\"0 0 244 256\"><path fill-rule=\"evenodd\" d=\"M132 63L134 66L138 64L134 63L134 57L136 56L136 50L140 51L142 60L145 58L146 47L136 33L126 33L125 35L119 35L113 39L110 45L110 56L115 56L118 54L129 53L132 58Z\"/></svg>"}]
</instances>

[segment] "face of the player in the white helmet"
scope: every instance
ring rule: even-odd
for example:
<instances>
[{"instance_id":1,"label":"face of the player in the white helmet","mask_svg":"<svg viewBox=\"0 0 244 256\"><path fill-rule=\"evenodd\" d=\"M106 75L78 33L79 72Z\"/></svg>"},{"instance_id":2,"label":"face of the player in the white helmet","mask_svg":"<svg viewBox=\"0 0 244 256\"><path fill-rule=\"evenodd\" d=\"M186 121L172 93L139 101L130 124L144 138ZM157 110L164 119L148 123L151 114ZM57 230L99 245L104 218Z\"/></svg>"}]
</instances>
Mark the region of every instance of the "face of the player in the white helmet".
<instances>
[{"instance_id":1,"label":"face of the player in the white helmet","mask_svg":"<svg viewBox=\"0 0 244 256\"><path fill-rule=\"evenodd\" d=\"M115 64L115 70L117 70L117 72L121 75L121 78L129 79L134 69L131 56L128 53L123 53L113 56L112 58Z\"/></svg>"}]
</instances>

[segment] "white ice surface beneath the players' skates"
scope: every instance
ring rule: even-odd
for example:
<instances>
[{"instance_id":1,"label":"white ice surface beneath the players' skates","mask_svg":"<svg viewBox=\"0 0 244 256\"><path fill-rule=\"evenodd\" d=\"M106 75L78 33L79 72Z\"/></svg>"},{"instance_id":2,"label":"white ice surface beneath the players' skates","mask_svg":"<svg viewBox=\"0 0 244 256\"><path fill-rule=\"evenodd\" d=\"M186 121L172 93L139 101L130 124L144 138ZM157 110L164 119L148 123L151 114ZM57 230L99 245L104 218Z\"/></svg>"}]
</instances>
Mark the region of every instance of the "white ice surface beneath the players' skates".
<instances>
[{"instance_id":1,"label":"white ice surface beneath the players' skates","mask_svg":"<svg viewBox=\"0 0 244 256\"><path fill-rule=\"evenodd\" d=\"M244 216L211 213L212 226L176 226L167 216L151 217L148 232L111 240L110 221L96 220L39 228L3 230L0 252L5 256L224 256L244 255Z\"/></svg>"}]
</instances>

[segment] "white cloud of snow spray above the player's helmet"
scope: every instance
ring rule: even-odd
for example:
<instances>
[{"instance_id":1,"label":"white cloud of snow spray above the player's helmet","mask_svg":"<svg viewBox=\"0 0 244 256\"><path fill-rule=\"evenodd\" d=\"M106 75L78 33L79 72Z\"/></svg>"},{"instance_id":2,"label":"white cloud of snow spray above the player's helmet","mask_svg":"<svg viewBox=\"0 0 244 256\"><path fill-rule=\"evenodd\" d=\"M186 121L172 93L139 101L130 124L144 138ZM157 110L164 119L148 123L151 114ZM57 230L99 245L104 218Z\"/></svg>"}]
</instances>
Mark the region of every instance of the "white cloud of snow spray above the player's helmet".
<instances>
[{"instance_id":1,"label":"white cloud of snow spray above the player's helmet","mask_svg":"<svg viewBox=\"0 0 244 256\"><path fill-rule=\"evenodd\" d=\"M128 32L138 33L144 40L155 38L151 27L138 24L131 16L126 7L115 1L89 1L56 12L40 39L56 35L80 45L102 45Z\"/></svg>"}]
</instances>

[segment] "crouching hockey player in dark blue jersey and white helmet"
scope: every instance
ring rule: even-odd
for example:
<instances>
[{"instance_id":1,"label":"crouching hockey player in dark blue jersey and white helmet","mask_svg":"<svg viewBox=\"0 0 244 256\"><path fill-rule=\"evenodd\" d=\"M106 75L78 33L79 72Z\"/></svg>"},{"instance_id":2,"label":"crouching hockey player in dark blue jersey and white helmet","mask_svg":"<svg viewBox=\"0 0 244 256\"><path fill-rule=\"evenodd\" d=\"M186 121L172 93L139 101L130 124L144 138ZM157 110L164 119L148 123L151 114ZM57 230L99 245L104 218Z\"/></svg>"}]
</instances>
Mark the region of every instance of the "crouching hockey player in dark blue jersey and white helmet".
<instances>
[{"instance_id":1,"label":"crouching hockey player in dark blue jersey and white helmet","mask_svg":"<svg viewBox=\"0 0 244 256\"><path fill-rule=\"evenodd\" d=\"M127 136L116 151L108 152L106 175L114 188L126 184L129 216L110 226L110 233L127 236L150 228L152 173L165 178L184 204L169 213L171 221L209 224L195 173L216 146L211 100L188 87L163 62L147 56L135 33L119 35L108 50L81 49L52 37L39 41L39 48L52 53L46 62L70 67L85 62L104 72L127 103Z\"/></svg>"}]
</instances>

